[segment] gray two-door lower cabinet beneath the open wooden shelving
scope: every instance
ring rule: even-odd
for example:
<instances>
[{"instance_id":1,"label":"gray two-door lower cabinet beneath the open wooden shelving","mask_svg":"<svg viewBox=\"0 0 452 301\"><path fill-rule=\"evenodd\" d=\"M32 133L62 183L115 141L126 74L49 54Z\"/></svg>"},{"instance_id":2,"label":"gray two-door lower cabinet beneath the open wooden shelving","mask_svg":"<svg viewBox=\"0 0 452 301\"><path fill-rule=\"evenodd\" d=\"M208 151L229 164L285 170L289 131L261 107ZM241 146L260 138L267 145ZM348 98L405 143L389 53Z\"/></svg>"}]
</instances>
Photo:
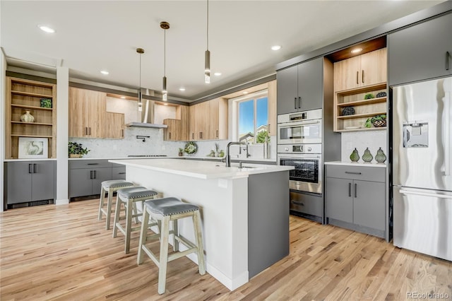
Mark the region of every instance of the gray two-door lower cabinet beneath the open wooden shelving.
<instances>
[{"instance_id":1,"label":"gray two-door lower cabinet beneath the open wooden shelving","mask_svg":"<svg viewBox=\"0 0 452 301\"><path fill-rule=\"evenodd\" d=\"M55 161L5 163L6 204L55 199Z\"/></svg>"}]
</instances>

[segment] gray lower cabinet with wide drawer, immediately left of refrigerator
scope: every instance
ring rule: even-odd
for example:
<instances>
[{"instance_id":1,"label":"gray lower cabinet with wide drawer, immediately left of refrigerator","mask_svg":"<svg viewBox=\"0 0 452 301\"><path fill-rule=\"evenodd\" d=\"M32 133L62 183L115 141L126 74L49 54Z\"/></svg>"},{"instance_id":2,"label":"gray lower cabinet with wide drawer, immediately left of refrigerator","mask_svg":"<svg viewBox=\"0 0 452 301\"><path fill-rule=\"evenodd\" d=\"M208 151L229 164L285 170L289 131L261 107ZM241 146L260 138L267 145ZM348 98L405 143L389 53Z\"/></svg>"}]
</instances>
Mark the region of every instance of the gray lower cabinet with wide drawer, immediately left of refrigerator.
<instances>
[{"instance_id":1,"label":"gray lower cabinet with wide drawer, immediately left of refrigerator","mask_svg":"<svg viewBox=\"0 0 452 301\"><path fill-rule=\"evenodd\" d=\"M326 165L327 223L385 237L385 168Z\"/></svg>"}]
</instances>

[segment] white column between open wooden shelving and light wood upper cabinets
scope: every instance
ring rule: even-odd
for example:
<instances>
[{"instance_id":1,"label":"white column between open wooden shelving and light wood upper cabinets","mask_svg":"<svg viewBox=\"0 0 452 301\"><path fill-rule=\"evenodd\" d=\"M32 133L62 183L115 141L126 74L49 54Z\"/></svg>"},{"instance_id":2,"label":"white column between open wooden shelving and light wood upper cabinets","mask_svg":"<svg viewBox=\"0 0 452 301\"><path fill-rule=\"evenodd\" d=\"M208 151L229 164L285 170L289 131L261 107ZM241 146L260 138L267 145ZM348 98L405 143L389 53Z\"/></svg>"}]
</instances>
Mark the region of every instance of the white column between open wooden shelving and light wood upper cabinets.
<instances>
[{"instance_id":1,"label":"white column between open wooden shelving and light wood upper cabinets","mask_svg":"<svg viewBox=\"0 0 452 301\"><path fill-rule=\"evenodd\" d=\"M69 203L69 69L57 67L57 200Z\"/></svg>"}]
</instances>

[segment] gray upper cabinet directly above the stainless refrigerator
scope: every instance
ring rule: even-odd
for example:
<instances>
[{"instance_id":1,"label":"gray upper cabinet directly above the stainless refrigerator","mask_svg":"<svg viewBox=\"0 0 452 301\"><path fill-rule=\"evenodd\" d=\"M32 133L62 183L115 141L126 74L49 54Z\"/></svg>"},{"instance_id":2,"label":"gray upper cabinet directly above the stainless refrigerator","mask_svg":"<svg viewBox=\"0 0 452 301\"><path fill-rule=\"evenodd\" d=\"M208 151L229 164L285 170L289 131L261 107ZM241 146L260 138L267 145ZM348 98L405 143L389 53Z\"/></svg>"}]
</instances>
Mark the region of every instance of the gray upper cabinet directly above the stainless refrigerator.
<instances>
[{"instance_id":1,"label":"gray upper cabinet directly above the stainless refrigerator","mask_svg":"<svg viewBox=\"0 0 452 301\"><path fill-rule=\"evenodd\" d=\"M388 35L388 83L452 75L452 13Z\"/></svg>"}]
</instances>

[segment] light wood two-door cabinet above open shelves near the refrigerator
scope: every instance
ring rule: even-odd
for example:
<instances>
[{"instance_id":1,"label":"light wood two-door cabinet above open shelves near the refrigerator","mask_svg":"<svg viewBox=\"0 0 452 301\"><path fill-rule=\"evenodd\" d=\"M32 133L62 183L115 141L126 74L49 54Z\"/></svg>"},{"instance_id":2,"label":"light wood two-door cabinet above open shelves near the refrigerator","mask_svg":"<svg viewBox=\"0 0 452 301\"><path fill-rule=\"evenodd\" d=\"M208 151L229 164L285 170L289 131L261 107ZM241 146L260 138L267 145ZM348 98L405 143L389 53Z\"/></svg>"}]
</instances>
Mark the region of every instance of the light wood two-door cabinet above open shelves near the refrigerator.
<instances>
[{"instance_id":1,"label":"light wood two-door cabinet above open shelves near the refrigerator","mask_svg":"<svg viewBox=\"0 0 452 301\"><path fill-rule=\"evenodd\" d=\"M386 83L386 48L334 63L335 92Z\"/></svg>"}]
</instances>

